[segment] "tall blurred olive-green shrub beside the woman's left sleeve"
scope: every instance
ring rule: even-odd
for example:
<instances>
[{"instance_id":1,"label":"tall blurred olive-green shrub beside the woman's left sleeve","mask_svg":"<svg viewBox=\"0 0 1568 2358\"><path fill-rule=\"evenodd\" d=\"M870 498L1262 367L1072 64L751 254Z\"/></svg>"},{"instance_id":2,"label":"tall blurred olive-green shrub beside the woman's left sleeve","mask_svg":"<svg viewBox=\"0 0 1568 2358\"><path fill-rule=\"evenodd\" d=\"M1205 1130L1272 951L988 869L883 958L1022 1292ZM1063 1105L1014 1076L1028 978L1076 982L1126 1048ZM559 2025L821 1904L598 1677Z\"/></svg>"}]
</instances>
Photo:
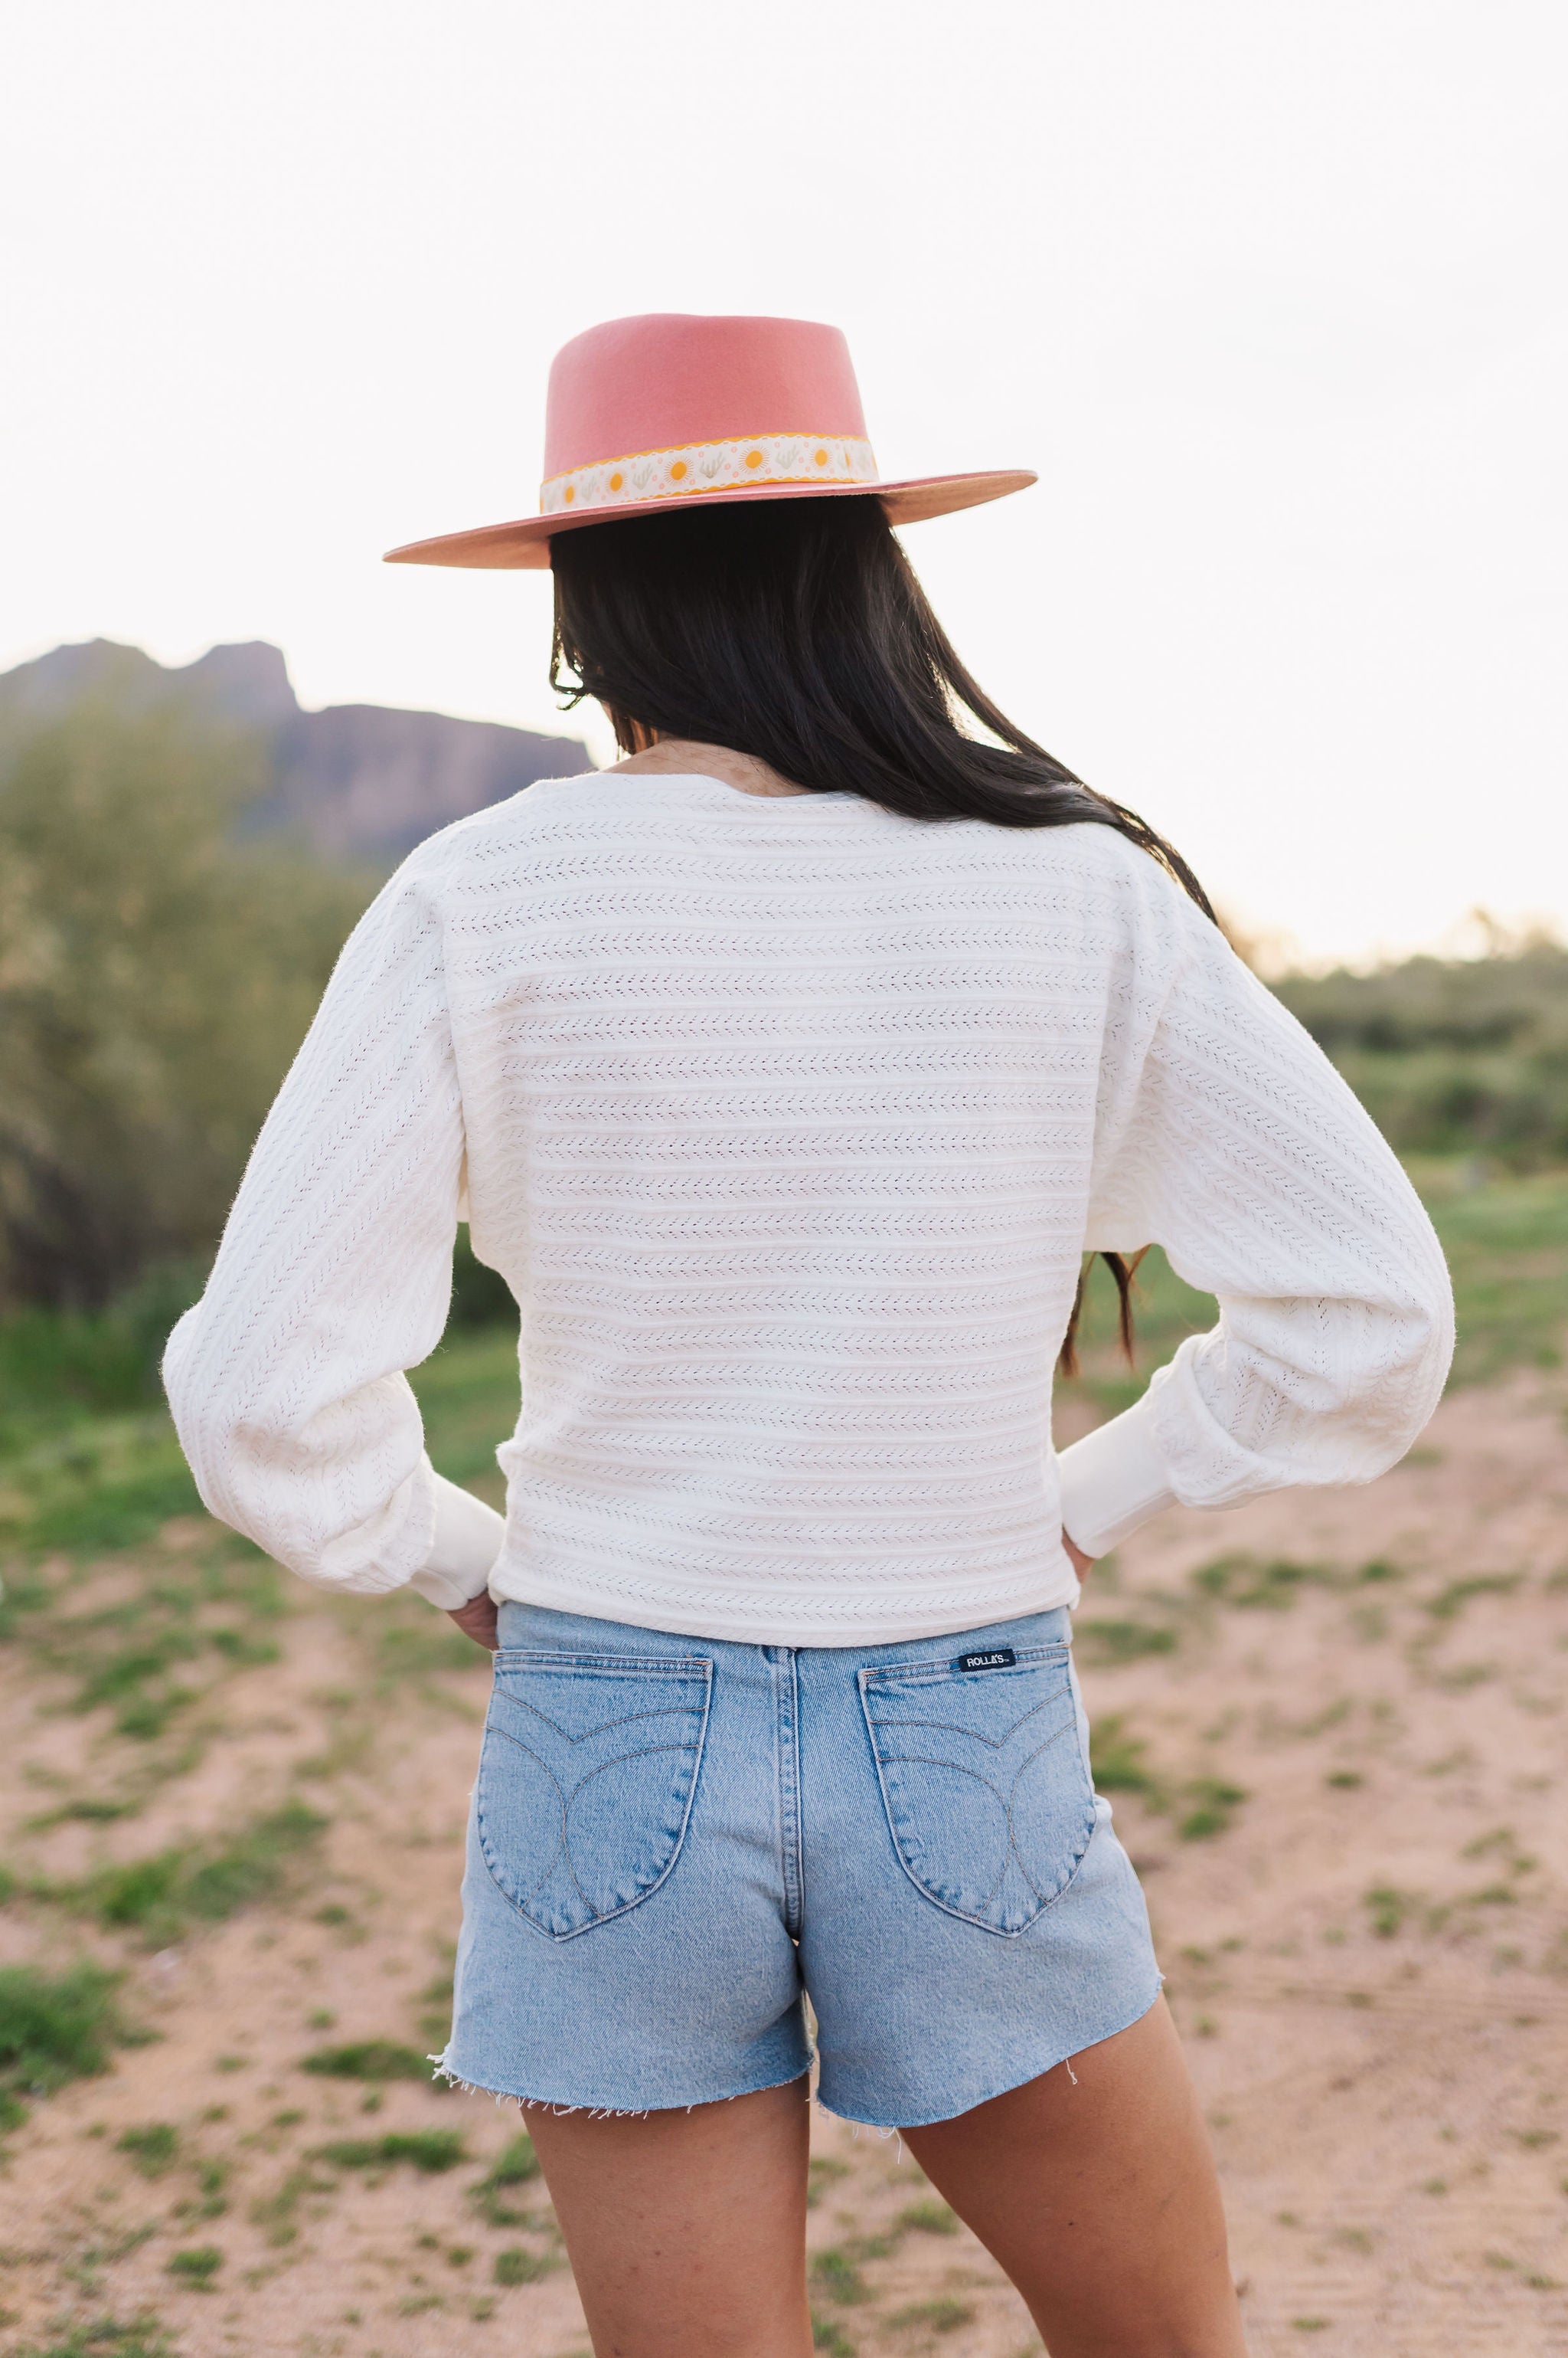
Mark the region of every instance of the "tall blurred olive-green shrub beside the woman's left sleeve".
<instances>
[{"instance_id":1,"label":"tall blurred olive-green shrub beside the woman's left sleeve","mask_svg":"<svg viewBox=\"0 0 1568 2358\"><path fill-rule=\"evenodd\" d=\"M368 898L356 875L236 835L262 785L255 745L177 705L83 705L9 743L0 1299L12 1306L94 1309L146 1269L212 1250ZM73 1353L73 1337L57 1342Z\"/></svg>"}]
</instances>

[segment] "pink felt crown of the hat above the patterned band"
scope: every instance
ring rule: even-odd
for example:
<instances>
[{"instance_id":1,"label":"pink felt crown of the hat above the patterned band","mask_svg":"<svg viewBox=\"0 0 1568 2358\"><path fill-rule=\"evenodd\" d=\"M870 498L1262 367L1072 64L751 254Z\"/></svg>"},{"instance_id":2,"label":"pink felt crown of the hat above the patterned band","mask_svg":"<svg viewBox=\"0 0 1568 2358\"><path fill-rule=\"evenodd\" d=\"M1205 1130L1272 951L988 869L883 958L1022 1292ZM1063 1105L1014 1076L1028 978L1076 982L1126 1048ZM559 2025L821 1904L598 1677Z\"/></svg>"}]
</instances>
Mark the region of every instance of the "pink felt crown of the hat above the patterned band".
<instances>
[{"instance_id":1,"label":"pink felt crown of the hat above the patterned band","mask_svg":"<svg viewBox=\"0 0 1568 2358\"><path fill-rule=\"evenodd\" d=\"M545 476L745 436L865 439L849 344L811 318L644 311L564 344L545 401Z\"/></svg>"}]
</instances>

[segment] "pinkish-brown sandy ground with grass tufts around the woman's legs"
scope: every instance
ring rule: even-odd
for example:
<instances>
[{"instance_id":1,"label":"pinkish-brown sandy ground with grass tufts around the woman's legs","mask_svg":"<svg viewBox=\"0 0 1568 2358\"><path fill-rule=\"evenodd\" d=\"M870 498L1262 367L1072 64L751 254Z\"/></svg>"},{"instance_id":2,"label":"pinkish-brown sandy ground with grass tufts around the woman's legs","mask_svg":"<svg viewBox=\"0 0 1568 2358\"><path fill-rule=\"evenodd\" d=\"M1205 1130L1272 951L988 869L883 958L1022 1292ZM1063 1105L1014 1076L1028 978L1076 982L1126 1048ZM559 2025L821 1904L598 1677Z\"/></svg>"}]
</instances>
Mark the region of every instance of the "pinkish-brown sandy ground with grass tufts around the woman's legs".
<instances>
[{"instance_id":1,"label":"pinkish-brown sandy ground with grass tufts around the woman's legs","mask_svg":"<svg viewBox=\"0 0 1568 2358\"><path fill-rule=\"evenodd\" d=\"M1174 1514L1080 1615L1101 1743L1122 1783L1151 1780L1115 1792L1118 1823L1257 2358L1568 2353L1566 1509L1561 1394L1457 1394L1372 1490ZM1224 1556L1250 1561L1193 1580ZM1271 1575L1276 1559L1309 1578ZM160 2037L5 2141L0 2349L146 2313L182 2358L587 2353L542 2186L509 2193L509 2224L474 2198L512 2113L394 2082L368 2115L361 2084L299 2070L323 2037L434 2044L422 1993L455 1936L483 1665L384 1698L354 1629L309 1596L283 1636L281 1665L224 1684L186 1773L125 1825L59 1825L47 1860L80 1875L304 1792L332 1820L309 1879L153 1955L47 1908L5 1915L0 1957L97 1943ZM127 1745L104 1714L61 1714L47 1679L9 1679L14 1863L42 1856L40 1792L101 1790ZM158 2176L116 2148L149 2122L179 2129ZM311 2158L431 2127L462 2129L469 2165ZM964 2233L898 2224L922 2181L894 2143L818 2117L816 2153L811 2242L846 2252L858 2285L839 2290L861 2292L835 2299L818 2271L823 2349L1040 2349ZM205 2245L210 2290L170 2275ZM502 2278L531 2280L498 2283L500 2252L523 2254Z\"/></svg>"}]
</instances>

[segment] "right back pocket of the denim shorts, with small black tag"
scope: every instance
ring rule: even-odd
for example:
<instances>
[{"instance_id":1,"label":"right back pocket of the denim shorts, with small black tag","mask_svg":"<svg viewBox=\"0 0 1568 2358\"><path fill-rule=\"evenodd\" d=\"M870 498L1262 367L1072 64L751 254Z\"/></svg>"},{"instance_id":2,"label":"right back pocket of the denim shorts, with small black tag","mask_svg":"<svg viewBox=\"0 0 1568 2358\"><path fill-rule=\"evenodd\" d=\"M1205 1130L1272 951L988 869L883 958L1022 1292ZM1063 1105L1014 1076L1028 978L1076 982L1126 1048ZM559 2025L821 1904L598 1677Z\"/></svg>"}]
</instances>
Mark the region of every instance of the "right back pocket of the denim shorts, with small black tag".
<instances>
[{"instance_id":1,"label":"right back pocket of the denim shorts, with small black tag","mask_svg":"<svg viewBox=\"0 0 1568 2358\"><path fill-rule=\"evenodd\" d=\"M960 1662L863 1669L861 1705L903 1872L948 1915L1019 1934L1094 1832L1068 1648Z\"/></svg>"}]
</instances>

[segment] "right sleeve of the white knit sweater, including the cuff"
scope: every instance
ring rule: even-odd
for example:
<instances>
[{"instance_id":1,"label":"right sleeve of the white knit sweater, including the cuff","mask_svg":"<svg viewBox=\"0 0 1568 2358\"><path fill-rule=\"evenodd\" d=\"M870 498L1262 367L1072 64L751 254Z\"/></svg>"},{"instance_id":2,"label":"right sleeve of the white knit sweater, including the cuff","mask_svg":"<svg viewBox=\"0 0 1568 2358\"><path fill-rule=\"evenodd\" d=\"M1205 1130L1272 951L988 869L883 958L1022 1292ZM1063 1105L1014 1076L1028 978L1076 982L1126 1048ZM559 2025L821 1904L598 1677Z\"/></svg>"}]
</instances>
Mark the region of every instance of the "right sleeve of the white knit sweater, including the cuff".
<instances>
[{"instance_id":1,"label":"right sleeve of the white knit sweater, including the cuff","mask_svg":"<svg viewBox=\"0 0 1568 2358\"><path fill-rule=\"evenodd\" d=\"M1061 1453L1087 1554L1177 1500L1372 1481L1452 1356L1443 1250L1394 1151L1219 929L1158 870L1146 891L1167 955L1108 1026L1085 1245L1162 1245L1219 1325Z\"/></svg>"}]
</instances>

